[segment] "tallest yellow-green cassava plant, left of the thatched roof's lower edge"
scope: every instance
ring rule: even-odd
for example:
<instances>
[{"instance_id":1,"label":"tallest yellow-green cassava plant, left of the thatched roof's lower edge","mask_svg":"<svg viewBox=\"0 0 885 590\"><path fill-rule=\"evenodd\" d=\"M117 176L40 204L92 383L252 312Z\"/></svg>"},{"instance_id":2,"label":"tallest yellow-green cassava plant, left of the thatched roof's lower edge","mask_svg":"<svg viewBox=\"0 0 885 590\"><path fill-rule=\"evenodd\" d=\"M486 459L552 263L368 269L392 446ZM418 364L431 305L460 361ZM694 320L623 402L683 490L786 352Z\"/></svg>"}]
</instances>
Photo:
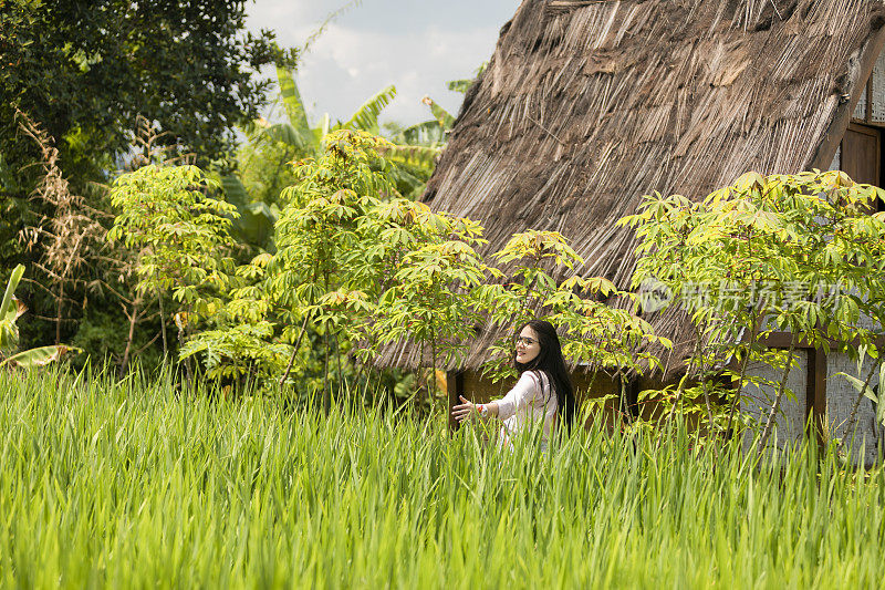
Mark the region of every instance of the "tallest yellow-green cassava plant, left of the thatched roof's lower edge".
<instances>
[{"instance_id":1,"label":"tallest yellow-green cassava plant, left of the thatched roof's lower edge","mask_svg":"<svg viewBox=\"0 0 885 590\"><path fill-rule=\"evenodd\" d=\"M373 278L357 272L366 263L365 240L372 239L360 229L366 213L394 195L385 172L387 163L378 155L386 145L385 139L365 132L333 132L320 157L295 164L295 184L281 195L287 205L277 221L278 252L268 267L267 280L283 323L282 337L293 344L280 383L289 380L304 335L310 330L321 332L325 407L331 403L330 353L340 352L350 340L351 332L343 327L361 323L354 314L366 311L360 306L342 306L341 297L330 293L364 292L372 287ZM360 297L345 299L357 301Z\"/></svg>"}]
</instances>

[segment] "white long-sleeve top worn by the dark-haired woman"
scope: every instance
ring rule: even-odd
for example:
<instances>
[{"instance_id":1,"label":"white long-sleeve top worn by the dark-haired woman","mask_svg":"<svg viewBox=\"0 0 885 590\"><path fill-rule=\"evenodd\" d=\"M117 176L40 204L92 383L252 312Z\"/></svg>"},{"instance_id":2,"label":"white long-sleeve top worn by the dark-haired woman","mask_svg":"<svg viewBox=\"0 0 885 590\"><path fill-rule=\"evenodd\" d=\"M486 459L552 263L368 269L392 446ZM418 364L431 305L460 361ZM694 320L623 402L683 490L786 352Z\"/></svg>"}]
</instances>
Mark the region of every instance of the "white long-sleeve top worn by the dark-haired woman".
<instances>
[{"instance_id":1,"label":"white long-sleeve top worn by the dark-haired woman","mask_svg":"<svg viewBox=\"0 0 885 590\"><path fill-rule=\"evenodd\" d=\"M556 418L559 402L543 371L524 371L512 390L498 400L498 417L501 425L501 444L508 445L519 432L537 421L544 421L542 448L546 448L550 433Z\"/></svg>"}]
</instances>

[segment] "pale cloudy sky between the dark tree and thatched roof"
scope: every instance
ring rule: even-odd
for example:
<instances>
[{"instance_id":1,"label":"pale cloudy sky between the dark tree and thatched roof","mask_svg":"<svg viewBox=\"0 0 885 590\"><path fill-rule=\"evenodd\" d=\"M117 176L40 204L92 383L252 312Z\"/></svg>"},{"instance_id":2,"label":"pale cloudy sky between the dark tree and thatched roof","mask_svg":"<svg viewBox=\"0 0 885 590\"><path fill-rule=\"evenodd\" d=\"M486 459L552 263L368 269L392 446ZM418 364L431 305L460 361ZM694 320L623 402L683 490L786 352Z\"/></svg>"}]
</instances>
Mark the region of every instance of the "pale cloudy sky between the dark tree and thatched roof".
<instances>
[{"instance_id":1,"label":"pale cloudy sky between the dark tree and thatched roof","mask_svg":"<svg viewBox=\"0 0 885 590\"><path fill-rule=\"evenodd\" d=\"M282 46L303 46L347 0L250 0L247 27L271 29ZM449 80L472 77L494 51L520 0L362 0L337 15L303 54L296 72L311 123L329 113L350 118L389 84L396 99L381 121L410 125L430 118L421 97L457 115L462 95ZM274 76L268 70L262 72ZM275 77L275 76L274 76Z\"/></svg>"}]
</instances>

